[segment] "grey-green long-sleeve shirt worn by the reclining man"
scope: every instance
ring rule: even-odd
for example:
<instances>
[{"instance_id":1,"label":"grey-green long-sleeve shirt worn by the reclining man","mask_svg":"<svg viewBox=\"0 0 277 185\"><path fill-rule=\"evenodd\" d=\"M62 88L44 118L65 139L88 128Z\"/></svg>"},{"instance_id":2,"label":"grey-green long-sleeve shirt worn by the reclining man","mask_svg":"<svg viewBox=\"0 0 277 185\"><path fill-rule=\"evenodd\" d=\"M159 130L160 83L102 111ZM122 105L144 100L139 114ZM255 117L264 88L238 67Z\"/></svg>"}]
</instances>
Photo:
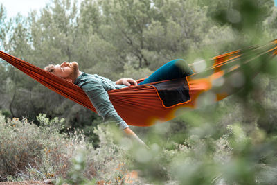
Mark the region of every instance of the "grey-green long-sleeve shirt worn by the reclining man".
<instances>
[{"instance_id":1,"label":"grey-green long-sleeve shirt worn by the reclining man","mask_svg":"<svg viewBox=\"0 0 277 185\"><path fill-rule=\"evenodd\" d=\"M127 87L125 85L117 85L108 78L82 73L76 78L75 85L81 87L91 100L92 105L96 108L96 112L102 116L104 121L116 121L120 129L128 127L127 123L117 114L116 109L109 100L107 91L112 89L120 89Z\"/></svg>"}]
</instances>

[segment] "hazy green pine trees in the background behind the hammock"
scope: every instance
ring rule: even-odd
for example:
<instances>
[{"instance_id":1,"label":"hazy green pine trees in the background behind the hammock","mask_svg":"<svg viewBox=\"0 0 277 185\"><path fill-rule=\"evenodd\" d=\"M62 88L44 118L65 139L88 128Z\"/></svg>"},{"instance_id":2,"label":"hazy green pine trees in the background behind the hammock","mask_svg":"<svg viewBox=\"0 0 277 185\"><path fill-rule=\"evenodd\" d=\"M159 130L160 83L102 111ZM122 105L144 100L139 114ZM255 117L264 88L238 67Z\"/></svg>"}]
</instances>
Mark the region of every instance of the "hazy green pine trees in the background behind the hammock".
<instances>
[{"instance_id":1,"label":"hazy green pine trees in the background behind the hammock","mask_svg":"<svg viewBox=\"0 0 277 185\"><path fill-rule=\"evenodd\" d=\"M1 6L1 46L39 67L78 61L82 71L112 80L142 78L175 58L186 58L188 63L203 58L199 51L204 49L211 58L265 43L275 37L276 8L272 6L271 0L89 0L78 7L77 2L53 0L40 12L10 20ZM217 17L217 22L211 17ZM253 39L255 36L258 39ZM3 64L0 78L10 88L0 87L1 109L12 116L37 123L36 116L43 112L51 118L64 117L66 124L81 128L97 121L91 112Z\"/></svg>"}]
</instances>

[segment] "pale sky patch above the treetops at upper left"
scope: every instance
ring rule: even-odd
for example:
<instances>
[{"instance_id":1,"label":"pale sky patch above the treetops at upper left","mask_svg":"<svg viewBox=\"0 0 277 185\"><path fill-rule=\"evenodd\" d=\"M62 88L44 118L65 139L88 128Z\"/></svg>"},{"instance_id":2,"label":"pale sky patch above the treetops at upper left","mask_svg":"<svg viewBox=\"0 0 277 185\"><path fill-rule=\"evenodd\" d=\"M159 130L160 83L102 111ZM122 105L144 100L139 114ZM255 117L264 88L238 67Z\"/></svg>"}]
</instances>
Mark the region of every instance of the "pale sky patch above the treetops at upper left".
<instances>
[{"instance_id":1,"label":"pale sky patch above the treetops at upper left","mask_svg":"<svg viewBox=\"0 0 277 185\"><path fill-rule=\"evenodd\" d=\"M15 17L18 12L21 15L27 16L30 10L39 11L43 8L46 3L51 0L0 0L0 4L7 10L7 17ZM277 0L274 0L275 5L277 5Z\"/></svg>"}]
</instances>

